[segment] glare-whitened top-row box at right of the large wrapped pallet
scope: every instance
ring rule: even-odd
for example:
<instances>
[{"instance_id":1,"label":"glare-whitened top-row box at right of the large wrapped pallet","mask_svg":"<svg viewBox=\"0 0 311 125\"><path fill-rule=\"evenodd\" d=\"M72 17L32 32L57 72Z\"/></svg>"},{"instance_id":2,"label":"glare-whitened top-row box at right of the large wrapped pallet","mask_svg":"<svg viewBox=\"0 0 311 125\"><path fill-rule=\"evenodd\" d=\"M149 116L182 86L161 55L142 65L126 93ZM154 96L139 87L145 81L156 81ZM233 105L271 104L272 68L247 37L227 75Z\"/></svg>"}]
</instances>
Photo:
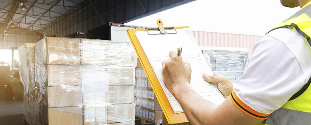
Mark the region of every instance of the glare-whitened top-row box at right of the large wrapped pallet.
<instances>
[{"instance_id":1,"label":"glare-whitened top-row box at right of the large wrapped pallet","mask_svg":"<svg viewBox=\"0 0 311 125\"><path fill-rule=\"evenodd\" d=\"M81 39L83 65L137 66L137 55L130 43Z\"/></svg>"}]
</instances>

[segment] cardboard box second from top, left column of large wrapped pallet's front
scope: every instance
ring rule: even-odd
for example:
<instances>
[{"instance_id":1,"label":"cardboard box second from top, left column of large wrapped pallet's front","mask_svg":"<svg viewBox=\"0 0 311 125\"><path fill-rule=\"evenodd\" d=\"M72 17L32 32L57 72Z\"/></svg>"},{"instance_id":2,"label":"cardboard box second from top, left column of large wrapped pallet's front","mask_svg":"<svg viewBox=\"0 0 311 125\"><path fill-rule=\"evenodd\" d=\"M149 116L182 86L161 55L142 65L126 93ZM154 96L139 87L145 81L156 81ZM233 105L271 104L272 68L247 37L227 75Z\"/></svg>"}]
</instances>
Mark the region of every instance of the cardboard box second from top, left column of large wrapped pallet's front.
<instances>
[{"instance_id":1,"label":"cardboard box second from top, left column of large wrapped pallet's front","mask_svg":"<svg viewBox=\"0 0 311 125\"><path fill-rule=\"evenodd\" d=\"M47 65L47 85L78 85L82 84L82 71L80 65Z\"/></svg>"}]
</instances>

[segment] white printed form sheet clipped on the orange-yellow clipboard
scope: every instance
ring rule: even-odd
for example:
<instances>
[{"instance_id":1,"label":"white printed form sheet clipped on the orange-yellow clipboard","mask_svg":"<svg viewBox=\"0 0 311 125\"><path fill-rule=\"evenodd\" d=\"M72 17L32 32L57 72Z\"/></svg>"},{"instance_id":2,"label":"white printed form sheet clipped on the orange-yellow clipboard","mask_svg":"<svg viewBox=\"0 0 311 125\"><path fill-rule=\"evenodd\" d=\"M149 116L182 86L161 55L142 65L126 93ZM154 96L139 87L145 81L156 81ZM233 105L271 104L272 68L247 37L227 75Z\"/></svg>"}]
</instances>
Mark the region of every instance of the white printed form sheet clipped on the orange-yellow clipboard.
<instances>
[{"instance_id":1,"label":"white printed form sheet clipped on the orange-yellow clipboard","mask_svg":"<svg viewBox=\"0 0 311 125\"><path fill-rule=\"evenodd\" d=\"M163 83L162 62L169 60L169 52L177 51L182 47L182 57L184 61L190 63L191 81L190 85L196 93L216 105L220 105L225 98L219 92L217 85L208 83L203 78L203 73L212 75L212 71L206 63L206 60L188 28L177 29L177 34L148 35L147 32L139 31L135 33L140 42L156 76L167 96L175 113L183 112L180 104L174 96L168 91Z\"/></svg>"}]
</instances>

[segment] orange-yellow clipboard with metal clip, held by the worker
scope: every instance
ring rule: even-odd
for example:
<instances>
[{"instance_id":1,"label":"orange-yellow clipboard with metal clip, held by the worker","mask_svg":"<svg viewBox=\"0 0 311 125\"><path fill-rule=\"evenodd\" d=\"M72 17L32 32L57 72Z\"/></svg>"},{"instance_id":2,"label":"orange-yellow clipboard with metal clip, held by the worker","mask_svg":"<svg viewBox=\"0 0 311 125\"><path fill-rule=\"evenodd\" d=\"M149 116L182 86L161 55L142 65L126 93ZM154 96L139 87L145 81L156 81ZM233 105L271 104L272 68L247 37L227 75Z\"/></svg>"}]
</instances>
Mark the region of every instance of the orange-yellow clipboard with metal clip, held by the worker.
<instances>
[{"instance_id":1,"label":"orange-yellow clipboard with metal clip, held by the worker","mask_svg":"<svg viewBox=\"0 0 311 125\"><path fill-rule=\"evenodd\" d=\"M181 29L181 28L188 28L187 26L185 27L163 27L163 22L161 20L157 21L158 23L158 27L153 27L153 28L141 28L141 29L127 29L127 35L129 36L132 45L136 51L136 54L139 58L139 61L142 64L143 69L145 70L145 73L147 75L147 78L152 86L152 89L154 91L154 94L156 95L156 97L158 98L158 101L160 103L160 106L163 110L163 113L165 115L166 120L168 121L169 124L178 124L178 123L187 123L188 120L185 116L185 113L174 113L173 108L171 107L169 100L167 99L164 90L162 89L160 82L158 81L158 78L156 76L156 74L154 73L151 64L148 61L148 58L144 52L144 50L142 49L142 46L140 45L135 32L137 31L147 31L148 30L158 30L160 31L160 33L166 33L166 34L170 34L165 32L165 29L175 29L175 31L177 32L176 29ZM149 32L148 32L149 34ZM149 34L149 35L158 35L158 34Z\"/></svg>"}]
</instances>

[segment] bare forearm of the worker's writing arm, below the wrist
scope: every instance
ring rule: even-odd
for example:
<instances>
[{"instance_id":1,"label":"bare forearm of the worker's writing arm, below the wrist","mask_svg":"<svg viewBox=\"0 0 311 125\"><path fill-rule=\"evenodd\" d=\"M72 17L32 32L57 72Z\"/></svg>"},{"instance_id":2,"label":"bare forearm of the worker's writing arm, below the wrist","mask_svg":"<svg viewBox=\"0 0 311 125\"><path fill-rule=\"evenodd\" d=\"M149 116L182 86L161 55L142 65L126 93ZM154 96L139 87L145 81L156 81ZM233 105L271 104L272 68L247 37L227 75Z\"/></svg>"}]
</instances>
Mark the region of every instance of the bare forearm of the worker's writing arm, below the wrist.
<instances>
[{"instance_id":1,"label":"bare forearm of the worker's writing arm, below the wrist","mask_svg":"<svg viewBox=\"0 0 311 125\"><path fill-rule=\"evenodd\" d=\"M191 124L211 124L212 120L208 118L217 105L201 98L189 84L174 88L172 94L180 103Z\"/></svg>"}]
</instances>

